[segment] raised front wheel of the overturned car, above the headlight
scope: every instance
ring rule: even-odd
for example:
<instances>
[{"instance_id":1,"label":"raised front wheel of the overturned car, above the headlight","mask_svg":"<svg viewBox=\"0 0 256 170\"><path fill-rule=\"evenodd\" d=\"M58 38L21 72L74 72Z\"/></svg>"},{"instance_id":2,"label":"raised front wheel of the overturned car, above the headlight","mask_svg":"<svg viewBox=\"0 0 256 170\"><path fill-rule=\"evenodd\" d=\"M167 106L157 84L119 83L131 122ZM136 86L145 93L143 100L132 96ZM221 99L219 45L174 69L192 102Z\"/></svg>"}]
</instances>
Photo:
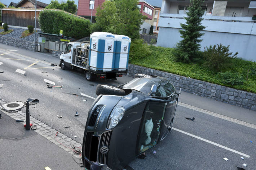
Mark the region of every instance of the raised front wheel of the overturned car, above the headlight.
<instances>
[{"instance_id":1,"label":"raised front wheel of the overturned car, above the headlight","mask_svg":"<svg viewBox=\"0 0 256 170\"><path fill-rule=\"evenodd\" d=\"M96 95L124 96L125 91L119 87L110 86L106 84L98 84L98 86L96 87Z\"/></svg>"}]
</instances>

